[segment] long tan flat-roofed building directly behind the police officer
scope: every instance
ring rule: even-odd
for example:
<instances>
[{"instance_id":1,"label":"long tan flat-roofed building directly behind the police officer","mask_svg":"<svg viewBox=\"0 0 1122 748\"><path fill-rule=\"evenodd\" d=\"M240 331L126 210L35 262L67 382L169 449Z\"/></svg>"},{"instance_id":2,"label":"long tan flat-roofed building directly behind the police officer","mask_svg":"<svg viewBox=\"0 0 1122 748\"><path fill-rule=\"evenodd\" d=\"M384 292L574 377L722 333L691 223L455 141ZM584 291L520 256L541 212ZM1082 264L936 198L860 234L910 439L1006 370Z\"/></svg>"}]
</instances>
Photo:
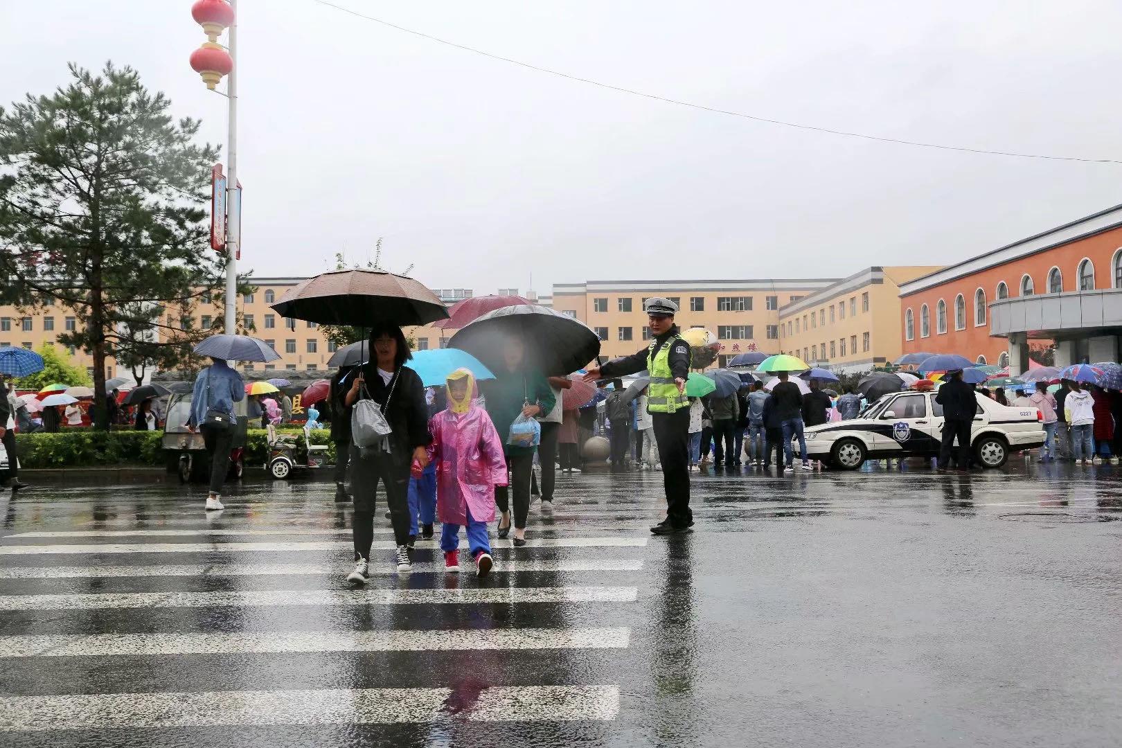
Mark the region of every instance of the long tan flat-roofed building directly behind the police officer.
<instances>
[{"instance_id":1,"label":"long tan flat-roofed building directly behind the police officer","mask_svg":"<svg viewBox=\"0 0 1122 748\"><path fill-rule=\"evenodd\" d=\"M718 364L748 350L780 350L779 311L836 278L760 280L588 280L553 286L553 308L600 336L600 359L634 353L650 338L643 302L663 296L678 304L682 330L705 327L717 335ZM753 348L754 347L754 348Z\"/></svg>"}]
</instances>

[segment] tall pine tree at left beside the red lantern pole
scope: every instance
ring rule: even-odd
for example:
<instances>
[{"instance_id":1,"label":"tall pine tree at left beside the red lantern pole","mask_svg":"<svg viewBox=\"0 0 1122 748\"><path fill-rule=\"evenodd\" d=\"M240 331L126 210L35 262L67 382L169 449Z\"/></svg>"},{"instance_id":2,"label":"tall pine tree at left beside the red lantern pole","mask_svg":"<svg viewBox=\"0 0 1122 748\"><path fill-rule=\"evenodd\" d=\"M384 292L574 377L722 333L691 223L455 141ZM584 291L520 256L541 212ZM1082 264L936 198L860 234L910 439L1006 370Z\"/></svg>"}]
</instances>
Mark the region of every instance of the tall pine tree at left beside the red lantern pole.
<instances>
[{"instance_id":1,"label":"tall pine tree at left beside the red lantern pole","mask_svg":"<svg viewBox=\"0 0 1122 748\"><path fill-rule=\"evenodd\" d=\"M84 322L58 341L92 355L104 428L107 357L121 348L130 368L166 364L210 334L177 311L222 285L205 222L218 151L131 68L70 72L66 87L0 108L0 274L11 279L0 297L53 301Z\"/></svg>"}]
</instances>

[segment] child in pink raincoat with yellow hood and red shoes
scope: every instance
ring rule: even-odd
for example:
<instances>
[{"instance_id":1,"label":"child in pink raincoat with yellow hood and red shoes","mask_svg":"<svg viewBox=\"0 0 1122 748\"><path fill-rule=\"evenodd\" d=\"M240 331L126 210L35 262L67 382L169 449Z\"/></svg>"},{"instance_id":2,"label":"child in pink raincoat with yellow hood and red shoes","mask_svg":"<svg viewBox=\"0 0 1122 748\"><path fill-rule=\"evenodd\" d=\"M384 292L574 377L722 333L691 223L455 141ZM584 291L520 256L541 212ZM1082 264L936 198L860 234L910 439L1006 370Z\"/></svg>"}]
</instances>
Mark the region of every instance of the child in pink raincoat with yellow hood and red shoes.
<instances>
[{"instance_id":1,"label":"child in pink raincoat with yellow hood and red shoes","mask_svg":"<svg viewBox=\"0 0 1122 748\"><path fill-rule=\"evenodd\" d=\"M436 463L436 516L444 571L460 571L460 525L476 561L476 574L491 569L487 523L495 519L495 487L506 486L503 440L490 416L475 404L475 377L467 369L448 376L448 408L429 421L430 455Z\"/></svg>"}]
</instances>

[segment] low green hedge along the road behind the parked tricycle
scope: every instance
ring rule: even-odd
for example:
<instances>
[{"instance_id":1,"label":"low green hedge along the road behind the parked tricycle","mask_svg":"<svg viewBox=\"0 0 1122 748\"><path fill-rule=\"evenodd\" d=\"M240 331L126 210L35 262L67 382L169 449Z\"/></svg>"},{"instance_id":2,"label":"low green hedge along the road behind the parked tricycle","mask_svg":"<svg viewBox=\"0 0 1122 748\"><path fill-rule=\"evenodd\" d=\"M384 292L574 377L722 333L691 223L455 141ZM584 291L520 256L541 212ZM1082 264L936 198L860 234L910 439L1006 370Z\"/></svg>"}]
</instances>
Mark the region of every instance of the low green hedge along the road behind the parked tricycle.
<instances>
[{"instance_id":1,"label":"low green hedge along the road behind the parked tricycle","mask_svg":"<svg viewBox=\"0 0 1122 748\"><path fill-rule=\"evenodd\" d=\"M280 432L302 433L303 430L285 426ZM72 428L57 434L17 434L16 450L24 468L89 468L103 465L162 467L166 461L162 431L93 431ZM250 428L246 434L246 465L265 464L268 453L267 432ZM329 459L334 461L335 449L331 432L312 431L313 444L328 444Z\"/></svg>"}]
</instances>

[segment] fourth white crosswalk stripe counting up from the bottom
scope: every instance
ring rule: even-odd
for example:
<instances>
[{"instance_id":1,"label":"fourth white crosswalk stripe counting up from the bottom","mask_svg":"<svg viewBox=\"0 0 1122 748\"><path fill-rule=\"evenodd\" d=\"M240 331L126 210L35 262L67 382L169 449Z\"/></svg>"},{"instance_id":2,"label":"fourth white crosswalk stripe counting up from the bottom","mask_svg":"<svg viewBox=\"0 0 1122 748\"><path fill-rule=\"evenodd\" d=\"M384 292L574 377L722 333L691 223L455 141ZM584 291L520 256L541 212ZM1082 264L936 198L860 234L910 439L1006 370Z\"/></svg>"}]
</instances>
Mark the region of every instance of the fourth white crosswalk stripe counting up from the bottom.
<instances>
[{"instance_id":1,"label":"fourth white crosswalk stripe counting up from the bottom","mask_svg":"<svg viewBox=\"0 0 1122 748\"><path fill-rule=\"evenodd\" d=\"M496 572L634 572L638 558L496 560ZM339 564L159 564L130 566L9 566L0 579L105 579L113 576L338 576L348 571ZM443 574L444 563L414 562L413 574ZM397 574L397 569L374 564L368 574Z\"/></svg>"}]
</instances>

